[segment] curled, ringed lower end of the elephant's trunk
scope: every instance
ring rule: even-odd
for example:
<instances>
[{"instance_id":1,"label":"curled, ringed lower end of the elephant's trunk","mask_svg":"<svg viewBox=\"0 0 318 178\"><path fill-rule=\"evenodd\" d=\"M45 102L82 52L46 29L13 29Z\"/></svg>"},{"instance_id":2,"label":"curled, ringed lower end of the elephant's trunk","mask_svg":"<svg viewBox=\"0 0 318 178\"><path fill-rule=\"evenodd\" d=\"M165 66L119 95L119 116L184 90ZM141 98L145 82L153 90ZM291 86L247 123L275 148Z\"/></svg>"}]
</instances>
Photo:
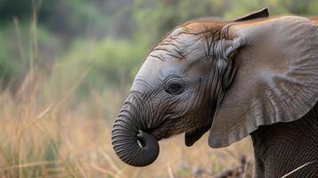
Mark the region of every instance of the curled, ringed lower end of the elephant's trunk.
<instances>
[{"instance_id":1,"label":"curled, ringed lower end of the elephant's trunk","mask_svg":"<svg viewBox=\"0 0 318 178\"><path fill-rule=\"evenodd\" d=\"M111 132L113 149L130 166L148 166L159 155L158 141L143 131L144 121L128 117L125 112L121 111Z\"/></svg>"}]
</instances>

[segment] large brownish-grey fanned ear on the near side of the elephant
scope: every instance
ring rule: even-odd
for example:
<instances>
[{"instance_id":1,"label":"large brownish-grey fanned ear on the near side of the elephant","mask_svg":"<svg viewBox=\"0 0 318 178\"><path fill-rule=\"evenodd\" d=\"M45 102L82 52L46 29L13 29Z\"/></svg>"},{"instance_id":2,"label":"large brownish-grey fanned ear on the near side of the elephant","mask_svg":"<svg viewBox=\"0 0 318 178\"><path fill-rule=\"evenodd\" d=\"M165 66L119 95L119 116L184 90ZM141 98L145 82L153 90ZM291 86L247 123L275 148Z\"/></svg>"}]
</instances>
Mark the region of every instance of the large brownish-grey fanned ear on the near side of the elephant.
<instances>
[{"instance_id":1,"label":"large brownish-grey fanned ear on the near side of the elephant","mask_svg":"<svg viewBox=\"0 0 318 178\"><path fill-rule=\"evenodd\" d=\"M318 100L318 29L306 18L284 16L228 24L239 46L232 84L213 118L212 148L237 142L259 125L303 117ZM228 49L225 49L228 51Z\"/></svg>"}]
</instances>

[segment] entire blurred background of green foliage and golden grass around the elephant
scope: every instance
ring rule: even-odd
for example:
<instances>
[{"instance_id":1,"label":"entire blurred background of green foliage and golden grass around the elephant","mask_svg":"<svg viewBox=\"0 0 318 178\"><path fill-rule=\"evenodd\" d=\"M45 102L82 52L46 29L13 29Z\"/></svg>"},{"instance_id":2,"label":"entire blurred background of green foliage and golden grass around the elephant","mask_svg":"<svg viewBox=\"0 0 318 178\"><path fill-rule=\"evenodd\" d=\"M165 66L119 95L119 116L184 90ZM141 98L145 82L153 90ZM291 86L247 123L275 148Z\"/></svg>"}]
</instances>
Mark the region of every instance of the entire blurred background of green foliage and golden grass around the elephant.
<instances>
[{"instance_id":1,"label":"entire blurred background of green foliage and golden grass around the elephant","mask_svg":"<svg viewBox=\"0 0 318 178\"><path fill-rule=\"evenodd\" d=\"M151 166L126 166L110 130L151 46L187 20L318 15L318 0L0 0L2 177L251 177L249 139L186 148L160 142Z\"/></svg>"}]
</instances>

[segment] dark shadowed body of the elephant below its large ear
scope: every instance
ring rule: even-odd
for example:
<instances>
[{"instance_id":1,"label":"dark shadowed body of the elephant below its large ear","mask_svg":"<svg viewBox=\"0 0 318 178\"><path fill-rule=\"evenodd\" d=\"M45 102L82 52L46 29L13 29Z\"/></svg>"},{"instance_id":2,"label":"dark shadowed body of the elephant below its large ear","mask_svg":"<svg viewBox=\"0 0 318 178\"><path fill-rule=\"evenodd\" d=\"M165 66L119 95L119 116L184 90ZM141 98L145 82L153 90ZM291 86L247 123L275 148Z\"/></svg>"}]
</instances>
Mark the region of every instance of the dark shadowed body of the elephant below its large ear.
<instances>
[{"instance_id":1,"label":"dark shadowed body of the elephant below its large ear","mask_svg":"<svg viewBox=\"0 0 318 178\"><path fill-rule=\"evenodd\" d=\"M256 177L281 177L300 166L303 167L292 177L318 175L317 103L304 117L290 123L261 126L251 137Z\"/></svg>"}]
</instances>

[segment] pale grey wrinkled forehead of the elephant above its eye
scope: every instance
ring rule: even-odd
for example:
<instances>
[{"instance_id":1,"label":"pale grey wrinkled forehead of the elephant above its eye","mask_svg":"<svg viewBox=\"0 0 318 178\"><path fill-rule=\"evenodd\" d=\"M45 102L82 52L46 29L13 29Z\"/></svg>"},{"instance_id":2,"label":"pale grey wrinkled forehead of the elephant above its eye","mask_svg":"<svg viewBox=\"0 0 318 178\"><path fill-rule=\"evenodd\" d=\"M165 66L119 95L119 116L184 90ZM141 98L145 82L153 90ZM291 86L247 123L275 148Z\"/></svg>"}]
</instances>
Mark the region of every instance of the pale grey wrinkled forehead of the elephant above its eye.
<instances>
[{"instance_id":1,"label":"pale grey wrinkled forehead of the elephant above its eye","mask_svg":"<svg viewBox=\"0 0 318 178\"><path fill-rule=\"evenodd\" d=\"M207 59L208 46L205 40L200 34L189 33L184 28L176 28L149 53L135 77L131 90L143 92L145 85L156 87L173 75L192 77L193 72L197 71L193 67Z\"/></svg>"}]
</instances>

